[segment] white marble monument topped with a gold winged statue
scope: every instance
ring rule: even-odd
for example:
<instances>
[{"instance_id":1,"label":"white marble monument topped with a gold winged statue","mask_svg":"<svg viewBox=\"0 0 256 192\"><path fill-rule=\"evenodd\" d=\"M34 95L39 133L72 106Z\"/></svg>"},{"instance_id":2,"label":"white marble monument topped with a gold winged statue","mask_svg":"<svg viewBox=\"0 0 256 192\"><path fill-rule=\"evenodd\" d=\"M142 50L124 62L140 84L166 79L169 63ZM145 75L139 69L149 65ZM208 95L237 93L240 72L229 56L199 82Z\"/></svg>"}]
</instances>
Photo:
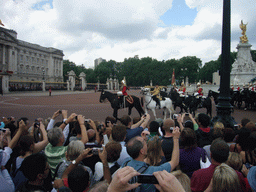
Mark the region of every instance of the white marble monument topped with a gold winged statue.
<instances>
[{"instance_id":1,"label":"white marble monument topped with a gold winged statue","mask_svg":"<svg viewBox=\"0 0 256 192\"><path fill-rule=\"evenodd\" d=\"M247 25L247 24L246 24ZM256 62L252 60L251 44L248 43L246 25L241 21L240 28L242 29L242 37L237 45L237 59L232 65L230 73L230 84L244 85L256 77Z\"/></svg>"}]
</instances>

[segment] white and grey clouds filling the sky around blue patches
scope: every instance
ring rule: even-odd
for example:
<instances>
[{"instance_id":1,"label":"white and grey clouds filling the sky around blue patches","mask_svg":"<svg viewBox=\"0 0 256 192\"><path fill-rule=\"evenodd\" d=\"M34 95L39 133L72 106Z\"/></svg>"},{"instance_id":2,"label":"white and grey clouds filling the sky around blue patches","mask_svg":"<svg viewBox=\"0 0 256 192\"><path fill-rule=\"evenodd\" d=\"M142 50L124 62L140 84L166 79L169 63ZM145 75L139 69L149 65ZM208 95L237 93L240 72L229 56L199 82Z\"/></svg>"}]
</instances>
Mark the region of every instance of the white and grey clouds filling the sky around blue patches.
<instances>
[{"instance_id":1,"label":"white and grey clouds filling the sky around blue patches","mask_svg":"<svg viewBox=\"0 0 256 192\"><path fill-rule=\"evenodd\" d=\"M53 8L32 7L40 0L1 0L0 19L18 38L64 51L65 59L93 66L94 59L123 61L139 55L158 60L197 56L203 62L221 53L221 0L186 0L198 14L192 25L163 27L160 16L172 0L53 0ZM256 49L256 0L231 2L231 50L241 36L241 19Z\"/></svg>"}]
</instances>

